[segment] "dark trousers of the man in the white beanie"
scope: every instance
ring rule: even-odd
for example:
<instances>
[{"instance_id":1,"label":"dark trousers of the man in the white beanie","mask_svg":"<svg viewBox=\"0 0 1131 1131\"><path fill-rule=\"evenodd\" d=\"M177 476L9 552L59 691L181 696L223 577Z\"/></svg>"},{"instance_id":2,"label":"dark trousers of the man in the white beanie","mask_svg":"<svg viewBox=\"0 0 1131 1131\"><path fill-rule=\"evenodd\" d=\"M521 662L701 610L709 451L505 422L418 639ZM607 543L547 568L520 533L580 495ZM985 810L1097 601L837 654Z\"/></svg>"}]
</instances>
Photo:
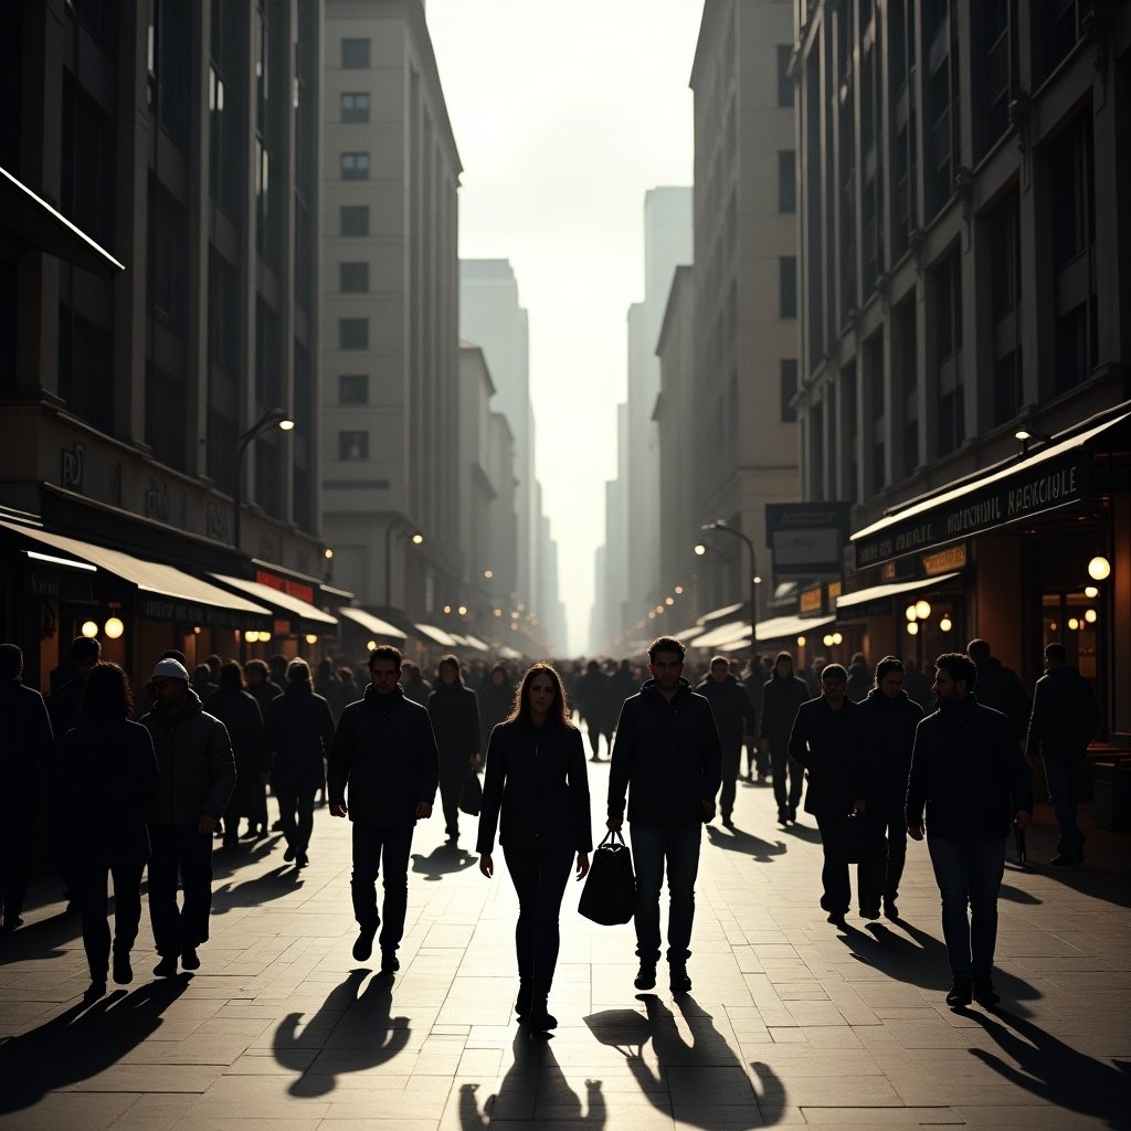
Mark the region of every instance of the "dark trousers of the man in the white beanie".
<instances>
[{"instance_id":1,"label":"dark trousers of the man in the white beanie","mask_svg":"<svg viewBox=\"0 0 1131 1131\"><path fill-rule=\"evenodd\" d=\"M211 836L195 824L150 824L149 920L163 958L196 950L208 941L211 910ZM176 905L180 875L183 905ZM100 908L104 913L103 908Z\"/></svg>"}]
</instances>

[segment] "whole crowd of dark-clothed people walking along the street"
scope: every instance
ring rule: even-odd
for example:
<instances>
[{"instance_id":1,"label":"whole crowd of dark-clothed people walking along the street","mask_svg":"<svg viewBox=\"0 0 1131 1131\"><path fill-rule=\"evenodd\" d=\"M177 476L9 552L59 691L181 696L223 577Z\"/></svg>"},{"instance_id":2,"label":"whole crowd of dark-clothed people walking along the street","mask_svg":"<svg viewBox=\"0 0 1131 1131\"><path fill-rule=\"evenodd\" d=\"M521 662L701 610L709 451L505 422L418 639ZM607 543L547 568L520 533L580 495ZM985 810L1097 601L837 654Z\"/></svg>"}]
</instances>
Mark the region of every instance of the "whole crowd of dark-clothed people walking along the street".
<instances>
[{"instance_id":1,"label":"whole crowd of dark-clothed people walking along the street","mask_svg":"<svg viewBox=\"0 0 1131 1131\"><path fill-rule=\"evenodd\" d=\"M448 655L430 683L389 646L373 649L361 671L329 659L312 672L301 658L241 666L211 656L190 673L170 651L136 702L98 641L79 638L44 701L23 684L19 648L5 644L0 709L12 732L2 787L9 798L35 797L50 774L55 864L81 913L92 998L105 993L110 975L132 981L146 871L154 974L199 968L213 839L238 851L241 821L244 838L266 837L268 784L284 860L296 869L310 862L319 794L331 817L349 820L353 956L368 961L377 941L381 972L394 974L415 824L432 815L439 794L448 844L458 846L461 793L485 763L476 851L493 877L498 839L518 895L516 1011L533 1028L553 1028L560 906L570 874L581 880L589 870L587 763L602 761L604 748L605 824L620 832L628 821L636 866L638 990L656 985L663 957L672 992L690 991L702 827L717 818L734 828L745 778L772 782L783 827L796 822L804 797L822 844L820 906L839 926L851 910L853 863L861 916L898 918L907 837L925 837L953 975L947 1000L990 1007L999 1000L992 973L1005 841L1029 822L1031 767L1044 765L1060 828L1052 863L1083 861L1077 777L1098 711L1062 645L1050 645L1044 659L1030 705L984 640L936 659L930 702L925 676L892 656L874 668L857 654L847 668L818 661L795 670L782 651L756 657L746 673L715 656L688 673L692 682L684 646L667 637L649 648L644 679L629 659L593 659L562 671L538 663L516 681L501 663ZM2 822L8 931L23 923L35 812L9 801Z\"/></svg>"}]
</instances>

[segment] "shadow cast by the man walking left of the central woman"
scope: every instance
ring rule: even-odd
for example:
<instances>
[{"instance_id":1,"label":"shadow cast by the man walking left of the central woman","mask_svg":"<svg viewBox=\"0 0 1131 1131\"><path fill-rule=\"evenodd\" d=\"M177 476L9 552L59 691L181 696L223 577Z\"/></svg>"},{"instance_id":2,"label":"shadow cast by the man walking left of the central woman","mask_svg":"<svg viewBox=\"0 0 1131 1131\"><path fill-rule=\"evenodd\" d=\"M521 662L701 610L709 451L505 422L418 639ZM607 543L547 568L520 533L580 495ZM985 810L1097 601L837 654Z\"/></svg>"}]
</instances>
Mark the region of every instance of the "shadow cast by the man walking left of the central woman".
<instances>
[{"instance_id":1,"label":"shadow cast by the man walking left of the central woman","mask_svg":"<svg viewBox=\"0 0 1131 1131\"><path fill-rule=\"evenodd\" d=\"M287 1089L292 1096L325 1096L334 1090L338 1076L377 1068L407 1046L408 1018L390 1017L394 978L375 975L359 998L357 988L368 975L369 970L351 970L302 1033L302 1013L288 1013L279 1022L271 1042L275 1060L301 1073Z\"/></svg>"}]
</instances>

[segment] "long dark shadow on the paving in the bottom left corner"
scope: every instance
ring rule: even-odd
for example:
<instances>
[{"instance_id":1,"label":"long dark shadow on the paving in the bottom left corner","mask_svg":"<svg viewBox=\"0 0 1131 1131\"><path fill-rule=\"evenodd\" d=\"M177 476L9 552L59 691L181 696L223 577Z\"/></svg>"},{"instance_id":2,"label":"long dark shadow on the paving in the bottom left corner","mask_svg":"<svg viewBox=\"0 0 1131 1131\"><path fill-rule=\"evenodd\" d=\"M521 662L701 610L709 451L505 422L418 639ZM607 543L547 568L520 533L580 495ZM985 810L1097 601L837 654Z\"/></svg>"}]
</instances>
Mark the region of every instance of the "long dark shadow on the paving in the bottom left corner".
<instances>
[{"instance_id":1,"label":"long dark shadow on the paving in the bottom left corner","mask_svg":"<svg viewBox=\"0 0 1131 1131\"><path fill-rule=\"evenodd\" d=\"M23 1111L49 1091L89 1080L116 1064L162 1025L162 1013L190 977L162 978L132 993L115 990L79 1002L36 1029L0 1045L0 1114Z\"/></svg>"}]
</instances>

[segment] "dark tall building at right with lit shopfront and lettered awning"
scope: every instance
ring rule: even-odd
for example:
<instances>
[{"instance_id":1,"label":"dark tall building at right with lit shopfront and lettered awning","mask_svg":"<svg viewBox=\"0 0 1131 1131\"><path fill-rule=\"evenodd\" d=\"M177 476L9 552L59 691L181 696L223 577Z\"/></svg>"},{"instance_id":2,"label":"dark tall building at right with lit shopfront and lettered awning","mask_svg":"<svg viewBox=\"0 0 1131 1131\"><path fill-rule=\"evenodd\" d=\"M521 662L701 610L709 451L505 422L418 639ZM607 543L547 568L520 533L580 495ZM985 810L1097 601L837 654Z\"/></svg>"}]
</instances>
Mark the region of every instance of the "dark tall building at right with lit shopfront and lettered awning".
<instances>
[{"instance_id":1,"label":"dark tall building at right with lit shopfront and lettered awning","mask_svg":"<svg viewBox=\"0 0 1131 1131\"><path fill-rule=\"evenodd\" d=\"M796 31L796 404L805 498L857 501L841 654L983 637L1031 687L1062 641L1128 744L1131 3Z\"/></svg>"}]
</instances>

